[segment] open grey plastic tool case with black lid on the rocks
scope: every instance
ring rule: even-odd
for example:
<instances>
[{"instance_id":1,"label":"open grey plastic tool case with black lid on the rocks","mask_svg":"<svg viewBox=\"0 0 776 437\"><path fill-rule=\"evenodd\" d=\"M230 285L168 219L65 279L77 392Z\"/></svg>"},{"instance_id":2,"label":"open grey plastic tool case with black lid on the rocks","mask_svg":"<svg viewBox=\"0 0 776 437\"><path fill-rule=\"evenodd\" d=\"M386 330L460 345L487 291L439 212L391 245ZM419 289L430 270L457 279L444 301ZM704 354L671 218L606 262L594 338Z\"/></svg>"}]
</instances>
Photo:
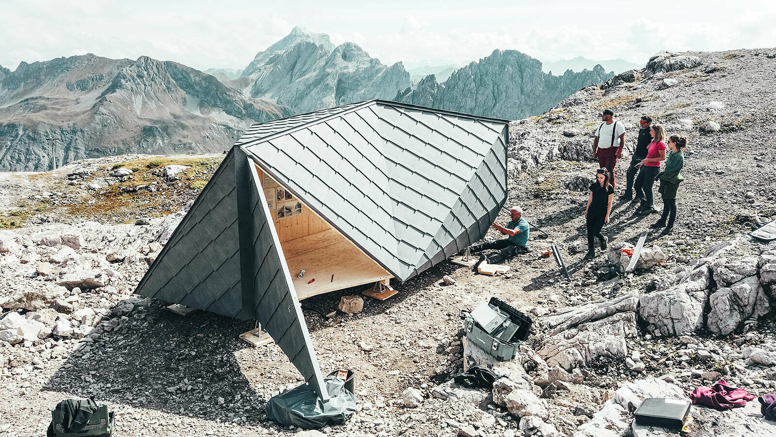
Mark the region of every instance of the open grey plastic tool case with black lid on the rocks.
<instances>
[{"instance_id":1,"label":"open grey plastic tool case with black lid on the rocks","mask_svg":"<svg viewBox=\"0 0 776 437\"><path fill-rule=\"evenodd\" d=\"M528 338L531 318L504 301L491 297L466 317L466 338L497 361L514 358L520 342Z\"/></svg>"}]
</instances>

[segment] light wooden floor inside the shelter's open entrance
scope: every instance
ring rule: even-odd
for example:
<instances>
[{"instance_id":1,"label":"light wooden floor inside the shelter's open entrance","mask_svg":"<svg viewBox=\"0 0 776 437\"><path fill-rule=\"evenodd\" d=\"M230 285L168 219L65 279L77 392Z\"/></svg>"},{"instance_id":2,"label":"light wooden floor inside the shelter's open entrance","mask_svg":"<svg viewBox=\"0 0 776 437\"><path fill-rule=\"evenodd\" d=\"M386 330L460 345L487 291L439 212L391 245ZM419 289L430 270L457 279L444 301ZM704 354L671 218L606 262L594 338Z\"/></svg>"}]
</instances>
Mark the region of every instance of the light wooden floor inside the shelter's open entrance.
<instances>
[{"instance_id":1,"label":"light wooden floor inside the shelter's open entrance","mask_svg":"<svg viewBox=\"0 0 776 437\"><path fill-rule=\"evenodd\" d=\"M281 245L299 300L393 278L334 229ZM300 270L305 271L302 278L298 277ZM315 280L310 283L311 279Z\"/></svg>"}]
</instances>

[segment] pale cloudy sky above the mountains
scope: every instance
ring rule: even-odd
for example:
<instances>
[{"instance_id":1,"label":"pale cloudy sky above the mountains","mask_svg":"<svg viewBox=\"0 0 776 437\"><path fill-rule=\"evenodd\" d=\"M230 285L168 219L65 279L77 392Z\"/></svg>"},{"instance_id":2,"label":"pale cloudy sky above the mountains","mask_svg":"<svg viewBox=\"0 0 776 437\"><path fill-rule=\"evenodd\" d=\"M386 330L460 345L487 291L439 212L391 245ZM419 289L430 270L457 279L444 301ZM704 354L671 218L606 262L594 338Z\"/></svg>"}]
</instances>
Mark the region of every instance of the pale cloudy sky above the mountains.
<instances>
[{"instance_id":1,"label":"pale cloudy sky above the mountains","mask_svg":"<svg viewBox=\"0 0 776 437\"><path fill-rule=\"evenodd\" d=\"M370 5L370 3L373 3ZM421 5L422 3L422 5ZM776 47L776 2L0 0L0 65L94 53L244 68L293 26L408 68L494 49L645 64L659 50Z\"/></svg>"}]
</instances>

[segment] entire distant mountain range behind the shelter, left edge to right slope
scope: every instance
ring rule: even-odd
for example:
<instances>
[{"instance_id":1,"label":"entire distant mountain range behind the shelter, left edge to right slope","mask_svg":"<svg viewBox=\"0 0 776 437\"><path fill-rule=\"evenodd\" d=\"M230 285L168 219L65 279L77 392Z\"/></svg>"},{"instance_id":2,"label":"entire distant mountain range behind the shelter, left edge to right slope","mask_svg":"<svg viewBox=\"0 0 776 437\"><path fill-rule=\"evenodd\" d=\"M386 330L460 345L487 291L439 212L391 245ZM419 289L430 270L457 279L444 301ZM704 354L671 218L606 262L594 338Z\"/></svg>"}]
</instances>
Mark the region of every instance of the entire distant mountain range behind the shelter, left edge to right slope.
<instances>
[{"instance_id":1,"label":"entire distant mountain range behind the shelter, left edge to right slope","mask_svg":"<svg viewBox=\"0 0 776 437\"><path fill-rule=\"evenodd\" d=\"M415 82L401 62L298 27L241 71L94 54L0 66L0 170L46 170L54 156L221 151L252 123L368 99L517 119L611 77L600 66L547 75L515 50L413 70L427 71Z\"/></svg>"}]
</instances>

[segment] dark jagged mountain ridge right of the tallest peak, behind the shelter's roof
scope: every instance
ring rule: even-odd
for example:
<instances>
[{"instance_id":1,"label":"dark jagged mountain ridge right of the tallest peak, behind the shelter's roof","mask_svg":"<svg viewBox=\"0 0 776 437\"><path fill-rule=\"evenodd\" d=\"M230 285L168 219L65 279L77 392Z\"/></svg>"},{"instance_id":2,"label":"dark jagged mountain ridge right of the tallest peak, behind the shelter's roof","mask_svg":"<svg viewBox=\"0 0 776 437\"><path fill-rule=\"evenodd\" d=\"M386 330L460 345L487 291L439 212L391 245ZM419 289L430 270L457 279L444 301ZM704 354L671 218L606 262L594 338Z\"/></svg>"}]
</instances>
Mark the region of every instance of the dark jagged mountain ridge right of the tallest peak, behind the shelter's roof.
<instances>
[{"instance_id":1,"label":"dark jagged mountain ridge right of the tallest peak, behind the shelter's roof","mask_svg":"<svg viewBox=\"0 0 776 437\"><path fill-rule=\"evenodd\" d=\"M605 82L614 74L600 65L593 71L542 72L542 62L517 50L494 50L438 83L428 75L394 98L400 102L509 120L540 114L580 88Z\"/></svg>"}]
</instances>

